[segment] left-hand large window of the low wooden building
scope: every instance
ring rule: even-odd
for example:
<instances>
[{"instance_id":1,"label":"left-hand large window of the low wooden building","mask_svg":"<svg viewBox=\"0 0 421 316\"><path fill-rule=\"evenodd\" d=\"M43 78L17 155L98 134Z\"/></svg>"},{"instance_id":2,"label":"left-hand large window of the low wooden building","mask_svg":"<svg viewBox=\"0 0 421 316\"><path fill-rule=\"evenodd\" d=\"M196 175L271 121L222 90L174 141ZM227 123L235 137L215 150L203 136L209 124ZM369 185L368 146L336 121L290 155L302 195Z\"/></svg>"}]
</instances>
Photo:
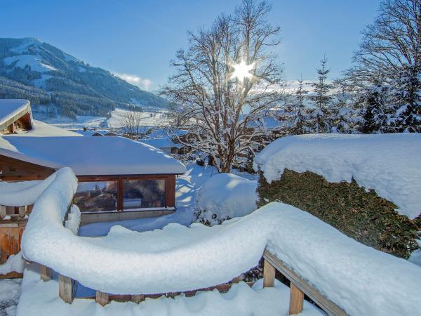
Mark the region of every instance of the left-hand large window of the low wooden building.
<instances>
[{"instance_id":1,"label":"left-hand large window of the low wooden building","mask_svg":"<svg viewBox=\"0 0 421 316\"><path fill-rule=\"evenodd\" d=\"M117 181L79 182L74 204L81 211L115 211L117 191Z\"/></svg>"}]
</instances>

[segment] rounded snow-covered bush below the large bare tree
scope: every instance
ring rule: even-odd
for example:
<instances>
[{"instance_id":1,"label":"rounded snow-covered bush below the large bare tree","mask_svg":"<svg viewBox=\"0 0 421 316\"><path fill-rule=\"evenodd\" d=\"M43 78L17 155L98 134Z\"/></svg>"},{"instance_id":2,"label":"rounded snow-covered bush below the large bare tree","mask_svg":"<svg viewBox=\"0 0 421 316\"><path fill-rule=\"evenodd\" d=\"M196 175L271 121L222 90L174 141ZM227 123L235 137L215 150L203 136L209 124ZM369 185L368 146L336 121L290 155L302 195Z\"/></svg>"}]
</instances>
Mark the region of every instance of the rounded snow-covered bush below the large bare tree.
<instances>
[{"instance_id":1,"label":"rounded snow-covered bush below the large bare tree","mask_svg":"<svg viewBox=\"0 0 421 316\"><path fill-rule=\"evenodd\" d=\"M220 173L206 181L197 195L200 220L210 225L245 216L257 209L258 182L232 173Z\"/></svg>"}]
</instances>

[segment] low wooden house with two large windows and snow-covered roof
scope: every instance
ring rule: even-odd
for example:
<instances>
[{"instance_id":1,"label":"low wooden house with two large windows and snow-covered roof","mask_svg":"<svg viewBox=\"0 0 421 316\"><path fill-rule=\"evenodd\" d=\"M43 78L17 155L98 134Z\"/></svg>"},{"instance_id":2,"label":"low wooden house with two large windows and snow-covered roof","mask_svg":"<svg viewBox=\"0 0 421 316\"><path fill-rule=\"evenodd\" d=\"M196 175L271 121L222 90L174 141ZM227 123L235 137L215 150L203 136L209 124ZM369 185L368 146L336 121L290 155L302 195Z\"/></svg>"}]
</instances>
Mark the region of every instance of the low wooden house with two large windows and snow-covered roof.
<instances>
[{"instance_id":1,"label":"low wooden house with two large windows and snow-covered roof","mask_svg":"<svg viewBox=\"0 0 421 316\"><path fill-rule=\"evenodd\" d=\"M74 204L82 225L175 211L175 177L185 173L178 160L128 138L83 137L30 122L30 131L0 136L0 180L44 179L71 167L79 179Z\"/></svg>"}]
</instances>

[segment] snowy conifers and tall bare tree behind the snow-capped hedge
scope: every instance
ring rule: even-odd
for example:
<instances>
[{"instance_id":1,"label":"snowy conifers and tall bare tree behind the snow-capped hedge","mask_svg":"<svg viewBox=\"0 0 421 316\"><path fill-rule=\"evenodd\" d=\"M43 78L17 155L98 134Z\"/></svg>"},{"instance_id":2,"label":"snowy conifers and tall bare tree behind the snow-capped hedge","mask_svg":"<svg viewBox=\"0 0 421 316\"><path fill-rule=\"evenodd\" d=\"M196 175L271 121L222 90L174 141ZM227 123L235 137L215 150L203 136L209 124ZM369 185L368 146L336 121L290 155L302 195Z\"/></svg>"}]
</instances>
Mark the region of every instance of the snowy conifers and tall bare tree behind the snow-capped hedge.
<instances>
[{"instance_id":1,"label":"snowy conifers and tall bare tree behind the snow-capped hedge","mask_svg":"<svg viewBox=\"0 0 421 316\"><path fill-rule=\"evenodd\" d=\"M342 78L328 80L323 58L318 81L298 81L288 133L421 132L420 16L419 0L383 1Z\"/></svg>"}]
</instances>

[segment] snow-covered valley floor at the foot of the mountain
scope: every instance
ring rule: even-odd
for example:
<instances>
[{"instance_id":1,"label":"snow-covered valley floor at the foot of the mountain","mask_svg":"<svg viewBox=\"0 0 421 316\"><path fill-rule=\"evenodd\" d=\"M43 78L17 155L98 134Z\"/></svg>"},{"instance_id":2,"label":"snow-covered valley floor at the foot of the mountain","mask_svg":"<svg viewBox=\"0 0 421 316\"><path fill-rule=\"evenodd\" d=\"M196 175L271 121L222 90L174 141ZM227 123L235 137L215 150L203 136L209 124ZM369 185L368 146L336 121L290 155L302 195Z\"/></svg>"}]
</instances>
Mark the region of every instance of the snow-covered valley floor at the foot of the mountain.
<instances>
[{"instance_id":1,"label":"snow-covered valley floor at the foot of the mountain","mask_svg":"<svg viewBox=\"0 0 421 316\"><path fill-rule=\"evenodd\" d=\"M121 126L121 119L123 115L128 112L123 109L116 109L112 111L111 117L93 117L93 116L78 116L76 120L57 115L57 117L48 118L44 112L33 112L34 119L44 121L53 126L61 127L62 129L82 129L88 128L118 128ZM168 125L166 110L152 110L145 108L142 112L142 126L166 126Z\"/></svg>"}]
</instances>

